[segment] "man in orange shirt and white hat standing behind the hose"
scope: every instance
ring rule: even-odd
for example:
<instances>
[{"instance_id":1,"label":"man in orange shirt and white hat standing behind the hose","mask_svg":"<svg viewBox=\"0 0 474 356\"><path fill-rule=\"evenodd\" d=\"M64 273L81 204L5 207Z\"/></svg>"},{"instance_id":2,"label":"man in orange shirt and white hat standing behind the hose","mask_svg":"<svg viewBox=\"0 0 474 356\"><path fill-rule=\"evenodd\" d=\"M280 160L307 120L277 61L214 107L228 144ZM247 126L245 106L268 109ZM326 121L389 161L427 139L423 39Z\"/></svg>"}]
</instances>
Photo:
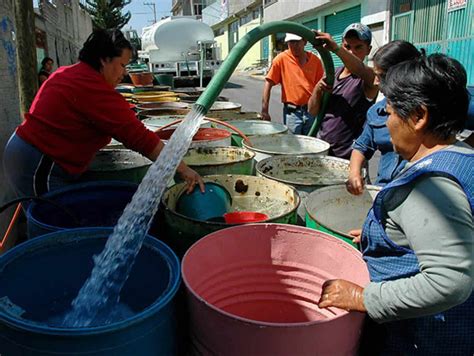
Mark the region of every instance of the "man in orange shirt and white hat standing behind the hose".
<instances>
[{"instance_id":1,"label":"man in orange shirt and white hat standing behind the hose","mask_svg":"<svg viewBox=\"0 0 474 356\"><path fill-rule=\"evenodd\" d=\"M265 78L262 118L271 121L268 113L271 90L274 85L281 84L283 123L290 132L306 135L314 122L314 117L308 113L308 100L324 70L319 58L304 50L306 40L287 33L285 42L288 49L275 57Z\"/></svg>"}]
</instances>

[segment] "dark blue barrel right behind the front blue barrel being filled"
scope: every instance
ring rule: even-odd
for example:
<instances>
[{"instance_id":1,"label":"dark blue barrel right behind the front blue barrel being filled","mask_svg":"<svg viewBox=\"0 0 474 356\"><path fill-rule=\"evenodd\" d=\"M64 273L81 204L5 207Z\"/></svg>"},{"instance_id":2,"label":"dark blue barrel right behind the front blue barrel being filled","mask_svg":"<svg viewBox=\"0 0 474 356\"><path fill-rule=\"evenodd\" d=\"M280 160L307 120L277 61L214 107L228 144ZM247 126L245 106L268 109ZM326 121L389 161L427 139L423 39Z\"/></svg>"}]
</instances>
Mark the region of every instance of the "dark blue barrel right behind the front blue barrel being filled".
<instances>
[{"instance_id":1,"label":"dark blue barrel right behind the front blue barrel being filled","mask_svg":"<svg viewBox=\"0 0 474 356\"><path fill-rule=\"evenodd\" d=\"M28 238L79 227L113 227L132 200L138 185L103 181L71 185L49 192L44 201L33 201L26 212ZM155 236L155 226L150 234Z\"/></svg>"}]
</instances>

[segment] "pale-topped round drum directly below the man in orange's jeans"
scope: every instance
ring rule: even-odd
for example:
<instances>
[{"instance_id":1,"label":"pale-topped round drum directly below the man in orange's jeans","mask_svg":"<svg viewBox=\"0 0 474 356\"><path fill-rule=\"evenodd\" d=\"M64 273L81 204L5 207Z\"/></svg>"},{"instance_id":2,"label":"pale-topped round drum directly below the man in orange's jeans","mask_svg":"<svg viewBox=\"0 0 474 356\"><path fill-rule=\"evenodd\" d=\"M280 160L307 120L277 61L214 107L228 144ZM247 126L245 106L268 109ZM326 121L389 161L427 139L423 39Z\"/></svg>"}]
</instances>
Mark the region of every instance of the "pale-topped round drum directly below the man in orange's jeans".
<instances>
[{"instance_id":1,"label":"pale-topped round drum directly below the man in orange's jeans","mask_svg":"<svg viewBox=\"0 0 474 356\"><path fill-rule=\"evenodd\" d=\"M253 136L251 145L242 142L243 147L256 153L255 160L260 162L264 158L278 155L327 155L329 143L318 138L302 135L258 135Z\"/></svg>"}]
</instances>

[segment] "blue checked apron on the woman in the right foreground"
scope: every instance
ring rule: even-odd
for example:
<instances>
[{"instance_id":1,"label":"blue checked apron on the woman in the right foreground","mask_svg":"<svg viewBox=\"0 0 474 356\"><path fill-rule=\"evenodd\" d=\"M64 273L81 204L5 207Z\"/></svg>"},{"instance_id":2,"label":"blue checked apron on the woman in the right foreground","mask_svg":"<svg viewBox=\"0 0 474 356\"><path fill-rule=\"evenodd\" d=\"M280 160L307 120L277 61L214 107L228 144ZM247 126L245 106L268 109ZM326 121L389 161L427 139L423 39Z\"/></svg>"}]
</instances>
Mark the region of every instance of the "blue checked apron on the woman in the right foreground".
<instances>
[{"instance_id":1,"label":"blue checked apron on the woman in the right foreground","mask_svg":"<svg viewBox=\"0 0 474 356\"><path fill-rule=\"evenodd\" d=\"M474 154L438 151L409 167L377 195L362 231L362 251L373 282L407 278L420 272L410 248L391 241L382 225L383 201L392 189L421 175L434 174L456 181L466 193L474 211ZM473 355L474 297L443 313L394 321L386 329L381 353L386 355ZM370 336L368 336L370 337Z\"/></svg>"}]
</instances>

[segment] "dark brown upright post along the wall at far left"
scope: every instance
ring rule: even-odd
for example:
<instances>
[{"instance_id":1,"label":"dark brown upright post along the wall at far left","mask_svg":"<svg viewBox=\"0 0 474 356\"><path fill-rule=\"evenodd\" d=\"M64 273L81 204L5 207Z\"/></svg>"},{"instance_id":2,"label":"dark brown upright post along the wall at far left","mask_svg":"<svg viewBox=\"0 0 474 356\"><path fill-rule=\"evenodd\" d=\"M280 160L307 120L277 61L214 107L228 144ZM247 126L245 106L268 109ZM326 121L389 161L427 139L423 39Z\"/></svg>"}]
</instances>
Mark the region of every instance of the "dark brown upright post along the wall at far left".
<instances>
[{"instance_id":1,"label":"dark brown upright post along the wall at far left","mask_svg":"<svg viewBox=\"0 0 474 356\"><path fill-rule=\"evenodd\" d=\"M32 0L14 0L18 90L21 115L28 112L38 91L38 72L35 43L35 14Z\"/></svg>"}]
</instances>

